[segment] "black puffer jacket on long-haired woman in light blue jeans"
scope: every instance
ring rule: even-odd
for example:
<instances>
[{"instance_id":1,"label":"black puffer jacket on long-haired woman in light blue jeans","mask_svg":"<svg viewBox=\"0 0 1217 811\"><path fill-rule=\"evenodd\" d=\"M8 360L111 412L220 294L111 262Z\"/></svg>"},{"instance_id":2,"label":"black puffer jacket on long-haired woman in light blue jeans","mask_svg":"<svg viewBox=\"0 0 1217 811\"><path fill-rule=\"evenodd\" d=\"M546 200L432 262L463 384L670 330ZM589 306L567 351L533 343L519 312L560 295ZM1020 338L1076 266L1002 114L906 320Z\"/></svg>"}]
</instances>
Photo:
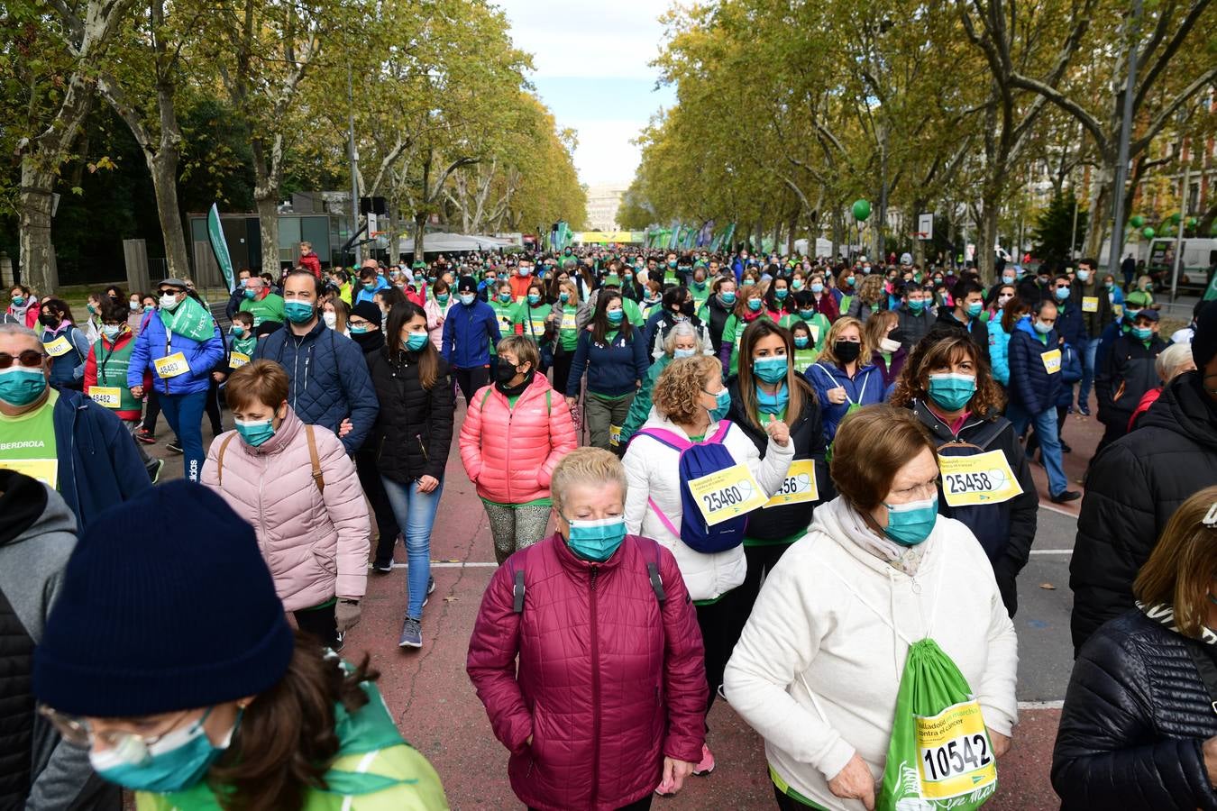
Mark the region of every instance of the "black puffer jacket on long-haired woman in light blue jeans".
<instances>
[{"instance_id":1,"label":"black puffer jacket on long-haired woman in light blue jeans","mask_svg":"<svg viewBox=\"0 0 1217 811\"><path fill-rule=\"evenodd\" d=\"M416 353L402 351L394 364L387 347L381 347L366 357L376 399L382 404L369 441L375 449L376 468L400 484L424 475L443 481L455 411L448 364L437 359L436 382L425 389L419 382Z\"/></svg>"}]
</instances>

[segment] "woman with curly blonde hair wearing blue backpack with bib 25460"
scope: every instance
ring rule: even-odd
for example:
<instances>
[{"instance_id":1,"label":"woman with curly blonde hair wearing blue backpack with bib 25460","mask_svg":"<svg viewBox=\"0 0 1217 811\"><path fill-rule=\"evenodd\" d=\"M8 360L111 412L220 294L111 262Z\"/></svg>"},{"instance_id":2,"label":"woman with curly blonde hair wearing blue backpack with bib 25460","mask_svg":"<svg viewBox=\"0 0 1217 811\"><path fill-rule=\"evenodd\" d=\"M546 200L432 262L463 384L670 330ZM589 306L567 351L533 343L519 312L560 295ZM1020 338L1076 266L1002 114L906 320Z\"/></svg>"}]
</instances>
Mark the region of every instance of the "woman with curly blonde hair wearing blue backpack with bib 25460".
<instances>
[{"instance_id":1,"label":"woman with curly blonde hair wearing blue backpack with bib 25460","mask_svg":"<svg viewBox=\"0 0 1217 811\"><path fill-rule=\"evenodd\" d=\"M731 396L722 373L722 364L707 355L672 361L655 383L650 418L630 439L622 460L629 480L627 531L655 539L672 551L697 608L710 687L707 713L748 615L747 596L738 588L747 571L745 517L783 486L795 456L785 422L774 418L767 423L769 440L762 458L747 434L724 419ZM711 445L719 447L707 449ZM689 454L690 460L717 455L716 464L703 467L733 471L723 474L720 486L697 491L695 499L707 506L708 516L684 513L682 455L694 446L699 447ZM729 517L723 520L724 516ZM694 775L713 770L714 756L703 747Z\"/></svg>"}]
</instances>

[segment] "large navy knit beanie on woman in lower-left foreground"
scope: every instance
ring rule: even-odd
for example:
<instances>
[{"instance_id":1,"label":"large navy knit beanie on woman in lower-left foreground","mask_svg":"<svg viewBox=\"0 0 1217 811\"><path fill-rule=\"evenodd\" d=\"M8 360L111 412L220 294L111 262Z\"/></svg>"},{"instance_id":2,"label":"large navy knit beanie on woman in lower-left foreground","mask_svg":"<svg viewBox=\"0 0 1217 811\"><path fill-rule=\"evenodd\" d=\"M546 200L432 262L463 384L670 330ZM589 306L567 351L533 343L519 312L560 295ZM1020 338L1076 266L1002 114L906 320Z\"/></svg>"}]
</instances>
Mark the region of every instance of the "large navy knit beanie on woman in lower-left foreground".
<instances>
[{"instance_id":1,"label":"large navy knit beanie on woman in lower-left foreground","mask_svg":"<svg viewBox=\"0 0 1217 811\"><path fill-rule=\"evenodd\" d=\"M102 717L211 706L274 686L293 647L253 528L207 488L172 481L80 537L34 653L34 694Z\"/></svg>"}]
</instances>

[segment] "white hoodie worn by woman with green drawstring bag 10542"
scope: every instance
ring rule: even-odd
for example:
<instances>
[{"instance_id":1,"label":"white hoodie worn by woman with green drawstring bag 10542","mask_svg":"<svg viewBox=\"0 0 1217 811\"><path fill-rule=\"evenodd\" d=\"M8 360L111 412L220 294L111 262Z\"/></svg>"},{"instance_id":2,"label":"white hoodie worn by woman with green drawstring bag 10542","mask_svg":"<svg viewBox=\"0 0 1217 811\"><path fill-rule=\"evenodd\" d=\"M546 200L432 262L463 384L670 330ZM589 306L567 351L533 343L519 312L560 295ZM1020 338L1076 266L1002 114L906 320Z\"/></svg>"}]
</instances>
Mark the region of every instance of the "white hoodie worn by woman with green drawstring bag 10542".
<instances>
[{"instance_id":1,"label":"white hoodie worn by woman with green drawstring bag 10542","mask_svg":"<svg viewBox=\"0 0 1217 811\"><path fill-rule=\"evenodd\" d=\"M851 540L859 523L841 497L815 509L765 578L723 680L770 767L826 809L863 809L828 788L856 751L882 777L910 641L929 636L954 660L986 726L1009 736L1017 721L1017 638L971 530L938 516L910 578Z\"/></svg>"}]
</instances>

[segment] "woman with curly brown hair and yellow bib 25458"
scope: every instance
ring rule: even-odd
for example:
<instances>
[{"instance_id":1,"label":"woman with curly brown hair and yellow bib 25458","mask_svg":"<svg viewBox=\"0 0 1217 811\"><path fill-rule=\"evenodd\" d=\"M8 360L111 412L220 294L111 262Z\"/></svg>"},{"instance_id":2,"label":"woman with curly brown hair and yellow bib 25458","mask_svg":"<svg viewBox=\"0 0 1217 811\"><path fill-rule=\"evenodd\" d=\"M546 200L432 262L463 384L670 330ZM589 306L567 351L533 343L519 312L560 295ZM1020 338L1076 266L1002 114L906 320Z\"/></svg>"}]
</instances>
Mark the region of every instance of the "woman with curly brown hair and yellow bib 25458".
<instances>
[{"instance_id":1,"label":"woman with curly brown hair and yellow bib 25458","mask_svg":"<svg viewBox=\"0 0 1217 811\"><path fill-rule=\"evenodd\" d=\"M1000 415L1005 396L988 365L958 331L931 332L909 356L891 402L916 415L940 455L985 455L987 461L977 464L986 477L992 469L1002 471L996 478L946 475L938 484L938 512L961 520L976 535L993 564L1002 602L1014 616L1019 606L1015 578L1031 554L1039 496L1014 427ZM975 491L985 492L985 500L970 497L971 490L960 485L981 488Z\"/></svg>"}]
</instances>

